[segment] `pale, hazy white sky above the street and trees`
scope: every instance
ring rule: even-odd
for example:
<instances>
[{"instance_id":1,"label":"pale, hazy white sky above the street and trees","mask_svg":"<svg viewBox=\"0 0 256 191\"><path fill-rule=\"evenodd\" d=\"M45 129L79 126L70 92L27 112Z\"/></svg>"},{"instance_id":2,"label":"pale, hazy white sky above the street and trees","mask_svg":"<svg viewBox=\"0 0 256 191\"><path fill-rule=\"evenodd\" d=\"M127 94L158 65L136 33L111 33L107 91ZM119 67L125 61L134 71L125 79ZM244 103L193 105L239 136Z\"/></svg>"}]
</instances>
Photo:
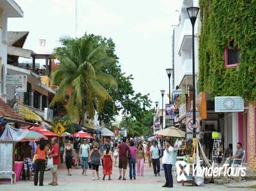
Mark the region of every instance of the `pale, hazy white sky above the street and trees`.
<instances>
[{"instance_id":1,"label":"pale, hazy white sky above the street and trees","mask_svg":"<svg viewBox=\"0 0 256 191\"><path fill-rule=\"evenodd\" d=\"M84 33L112 38L122 72L133 75L134 91L149 93L151 108L162 104L160 90L169 89L166 68L172 68L172 25L179 21L182 0L77 0L77 27L75 0L15 1L24 16L9 18L8 31L29 31L23 48L36 50L45 39L51 52L61 37L75 38L76 29L77 38Z\"/></svg>"}]
</instances>

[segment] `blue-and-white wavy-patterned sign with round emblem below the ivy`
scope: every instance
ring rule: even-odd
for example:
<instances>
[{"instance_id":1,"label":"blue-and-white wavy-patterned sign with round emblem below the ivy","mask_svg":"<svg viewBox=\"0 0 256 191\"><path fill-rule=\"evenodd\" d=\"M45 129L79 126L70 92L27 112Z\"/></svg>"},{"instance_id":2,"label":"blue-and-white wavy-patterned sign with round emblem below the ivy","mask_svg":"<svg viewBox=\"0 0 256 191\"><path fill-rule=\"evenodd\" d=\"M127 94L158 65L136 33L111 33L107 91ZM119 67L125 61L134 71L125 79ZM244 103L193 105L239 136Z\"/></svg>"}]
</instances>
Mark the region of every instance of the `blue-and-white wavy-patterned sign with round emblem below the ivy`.
<instances>
[{"instance_id":1,"label":"blue-and-white wavy-patterned sign with round emblem below the ivy","mask_svg":"<svg viewBox=\"0 0 256 191\"><path fill-rule=\"evenodd\" d=\"M240 96L216 96L214 105L215 112L244 111L244 99Z\"/></svg>"}]
</instances>

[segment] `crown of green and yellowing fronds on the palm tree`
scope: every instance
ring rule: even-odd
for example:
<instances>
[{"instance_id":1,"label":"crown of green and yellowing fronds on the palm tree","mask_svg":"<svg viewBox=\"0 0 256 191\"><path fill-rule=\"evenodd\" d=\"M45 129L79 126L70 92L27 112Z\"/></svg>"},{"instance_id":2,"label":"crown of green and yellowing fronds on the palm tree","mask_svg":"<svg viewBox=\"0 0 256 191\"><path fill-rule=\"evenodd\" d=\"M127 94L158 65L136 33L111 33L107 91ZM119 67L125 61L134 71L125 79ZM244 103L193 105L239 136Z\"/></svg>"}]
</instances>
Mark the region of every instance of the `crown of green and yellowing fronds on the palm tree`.
<instances>
[{"instance_id":1,"label":"crown of green and yellowing fronds on the palm tree","mask_svg":"<svg viewBox=\"0 0 256 191\"><path fill-rule=\"evenodd\" d=\"M107 86L117 88L116 80L110 74L102 72L103 66L112 65L115 59L107 56L106 47L93 40L94 35L81 38L62 38L62 47L55 48L55 57L60 61L59 67L51 78L53 85L59 89L51 101L63 102L68 89L72 89L66 106L69 115L84 125L84 114L94 117L94 109L103 110L106 100L112 100Z\"/></svg>"}]
</instances>

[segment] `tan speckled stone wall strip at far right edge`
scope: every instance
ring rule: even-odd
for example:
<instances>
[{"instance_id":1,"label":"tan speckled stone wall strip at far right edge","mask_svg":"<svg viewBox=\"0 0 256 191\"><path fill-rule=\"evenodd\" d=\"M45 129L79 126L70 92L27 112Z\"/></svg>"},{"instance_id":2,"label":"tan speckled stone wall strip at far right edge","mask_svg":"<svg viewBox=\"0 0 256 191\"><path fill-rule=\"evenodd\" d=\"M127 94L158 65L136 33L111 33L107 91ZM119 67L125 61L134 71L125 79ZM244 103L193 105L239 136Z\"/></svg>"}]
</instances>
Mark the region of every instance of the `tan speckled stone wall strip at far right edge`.
<instances>
[{"instance_id":1,"label":"tan speckled stone wall strip at far right edge","mask_svg":"<svg viewBox=\"0 0 256 191\"><path fill-rule=\"evenodd\" d=\"M249 155L249 168L251 169L251 171L256 172L256 145L255 145L255 107L256 105L253 103L249 103L249 110L248 110L248 152Z\"/></svg>"}]
</instances>

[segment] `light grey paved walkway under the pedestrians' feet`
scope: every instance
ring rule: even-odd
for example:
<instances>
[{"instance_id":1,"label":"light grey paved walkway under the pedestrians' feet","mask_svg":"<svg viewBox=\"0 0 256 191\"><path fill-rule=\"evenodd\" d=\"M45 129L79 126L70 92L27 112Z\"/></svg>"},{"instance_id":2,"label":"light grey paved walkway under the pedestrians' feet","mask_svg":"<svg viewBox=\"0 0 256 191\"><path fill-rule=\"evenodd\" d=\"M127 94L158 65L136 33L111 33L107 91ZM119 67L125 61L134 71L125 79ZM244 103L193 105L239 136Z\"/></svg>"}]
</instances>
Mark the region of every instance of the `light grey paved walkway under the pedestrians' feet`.
<instances>
[{"instance_id":1,"label":"light grey paved walkway under the pedestrians' feet","mask_svg":"<svg viewBox=\"0 0 256 191\"><path fill-rule=\"evenodd\" d=\"M255 190L255 188L227 188L223 185L216 185L214 183L207 183L205 186L201 187L192 187L192 186L181 186L181 183L175 181L174 188L162 188L162 185L165 183L164 171L160 172L160 176L154 177L153 169L148 167L148 164L145 164L144 177L136 177L136 180L129 180L129 168L127 169L126 177L127 180L118 180L118 168L114 167L112 180L105 181L102 180L102 167L100 166L100 176L99 180L92 180L92 175L88 172L88 176L81 175L81 169L73 169L72 176L67 176L67 171L65 169L60 169L58 171L59 185L58 186L49 186L48 183L51 181L51 172L47 171L44 173L44 186L34 186L33 181L18 181L16 184L10 184L8 182L0 182L0 190L9 191L23 191L23 190L84 190L84 191L150 191L150 190L179 190L179 191L188 191L188 190L207 190L207 191L222 191L222 190Z\"/></svg>"}]
</instances>

